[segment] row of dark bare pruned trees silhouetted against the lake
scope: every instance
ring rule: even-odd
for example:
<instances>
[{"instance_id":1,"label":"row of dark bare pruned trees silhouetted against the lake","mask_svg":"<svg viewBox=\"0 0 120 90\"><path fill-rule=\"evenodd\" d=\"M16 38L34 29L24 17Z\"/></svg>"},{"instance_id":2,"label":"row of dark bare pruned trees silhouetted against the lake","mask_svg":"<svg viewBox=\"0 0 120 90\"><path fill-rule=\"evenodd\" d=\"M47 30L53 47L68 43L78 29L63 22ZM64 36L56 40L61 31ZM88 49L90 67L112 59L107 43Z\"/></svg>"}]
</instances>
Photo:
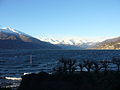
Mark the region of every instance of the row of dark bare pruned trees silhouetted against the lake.
<instances>
[{"instance_id":1,"label":"row of dark bare pruned trees silhouetted against the lake","mask_svg":"<svg viewBox=\"0 0 120 90\"><path fill-rule=\"evenodd\" d=\"M59 66L55 68L57 72L62 72L62 73L73 73L77 66L80 69L80 72L83 72L83 68L86 68L88 72L95 71L98 73L101 70L104 70L105 72L110 70L110 67L112 64L116 64L117 71L120 71L120 57L114 57L111 60L83 60L79 63L76 62L74 59L65 59L61 58L59 59Z\"/></svg>"}]
</instances>

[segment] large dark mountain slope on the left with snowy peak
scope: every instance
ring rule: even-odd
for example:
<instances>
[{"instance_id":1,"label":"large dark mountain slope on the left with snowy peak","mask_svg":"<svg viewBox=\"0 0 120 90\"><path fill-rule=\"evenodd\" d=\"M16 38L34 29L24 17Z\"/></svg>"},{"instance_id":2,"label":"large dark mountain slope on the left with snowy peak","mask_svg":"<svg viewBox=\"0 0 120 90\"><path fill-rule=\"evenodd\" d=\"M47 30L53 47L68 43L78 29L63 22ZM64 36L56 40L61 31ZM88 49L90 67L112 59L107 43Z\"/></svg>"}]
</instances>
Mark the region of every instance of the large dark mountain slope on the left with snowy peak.
<instances>
[{"instance_id":1,"label":"large dark mountain slope on the left with snowy peak","mask_svg":"<svg viewBox=\"0 0 120 90\"><path fill-rule=\"evenodd\" d=\"M40 41L12 28L0 29L1 49L59 49L58 46Z\"/></svg>"}]
</instances>

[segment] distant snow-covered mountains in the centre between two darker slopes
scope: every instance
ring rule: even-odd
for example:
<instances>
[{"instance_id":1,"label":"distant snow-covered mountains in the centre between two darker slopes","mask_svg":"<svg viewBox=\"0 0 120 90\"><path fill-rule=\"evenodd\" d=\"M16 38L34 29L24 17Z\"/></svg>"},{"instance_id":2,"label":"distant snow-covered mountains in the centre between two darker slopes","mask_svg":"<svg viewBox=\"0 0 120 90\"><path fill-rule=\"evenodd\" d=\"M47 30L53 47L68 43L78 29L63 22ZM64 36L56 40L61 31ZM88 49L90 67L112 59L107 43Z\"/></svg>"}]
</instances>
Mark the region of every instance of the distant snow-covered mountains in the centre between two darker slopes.
<instances>
[{"instance_id":1,"label":"distant snow-covered mountains in the centre between two darker slopes","mask_svg":"<svg viewBox=\"0 0 120 90\"><path fill-rule=\"evenodd\" d=\"M58 45L65 49L86 49L90 48L98 42L89 41L86 39L53 39L53 38L40 38L41 41L46 41L55 45Z\"/></svg>"}]
</instances>

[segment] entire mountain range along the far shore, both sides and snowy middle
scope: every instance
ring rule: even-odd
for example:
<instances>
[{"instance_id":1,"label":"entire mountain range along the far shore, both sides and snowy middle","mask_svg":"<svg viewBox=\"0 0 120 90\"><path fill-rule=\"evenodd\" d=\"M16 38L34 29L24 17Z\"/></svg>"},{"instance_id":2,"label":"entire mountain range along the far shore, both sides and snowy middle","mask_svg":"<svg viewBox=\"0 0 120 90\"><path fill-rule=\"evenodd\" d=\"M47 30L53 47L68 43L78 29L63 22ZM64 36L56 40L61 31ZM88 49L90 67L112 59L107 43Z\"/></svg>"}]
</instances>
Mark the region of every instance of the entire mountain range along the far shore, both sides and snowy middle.
<instances>
[{"instance_id":1,"label":"entire mountain range along the far shore, both sides and snowy middle","mask_svg":"<svg viewBox=\"0 0 120 90\"><path fill-rule=\"evenodd\" d=\"M120 49L120 37L104 41L69 38L34 38L16 29L0 29L0 49Z\"/></svg>"}]
</instances>

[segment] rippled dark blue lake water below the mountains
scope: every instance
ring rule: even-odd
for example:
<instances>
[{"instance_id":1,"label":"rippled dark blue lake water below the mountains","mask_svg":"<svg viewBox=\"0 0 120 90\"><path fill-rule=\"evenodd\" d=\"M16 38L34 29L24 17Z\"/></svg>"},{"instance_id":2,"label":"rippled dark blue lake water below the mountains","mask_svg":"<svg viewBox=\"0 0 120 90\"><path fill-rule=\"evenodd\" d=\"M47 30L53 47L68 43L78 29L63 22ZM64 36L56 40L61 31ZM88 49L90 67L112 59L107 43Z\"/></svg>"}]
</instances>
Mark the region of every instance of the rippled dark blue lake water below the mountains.
<instances>
[{"instance_id":1,"label":"rippled dark blue lake water below the mountains","mask_svg":"<svg viewBox=\"0 0 120 90\"><path fill-rule=\"evenodd\" d=\"M0 86L16 85L24 73L51 72L62 57L81 60L111 60L119 50L0 50ZM10 80L14 79L14 80ZM14 86L13 85L13 86Z\"/></svg>"}]
</instances>

